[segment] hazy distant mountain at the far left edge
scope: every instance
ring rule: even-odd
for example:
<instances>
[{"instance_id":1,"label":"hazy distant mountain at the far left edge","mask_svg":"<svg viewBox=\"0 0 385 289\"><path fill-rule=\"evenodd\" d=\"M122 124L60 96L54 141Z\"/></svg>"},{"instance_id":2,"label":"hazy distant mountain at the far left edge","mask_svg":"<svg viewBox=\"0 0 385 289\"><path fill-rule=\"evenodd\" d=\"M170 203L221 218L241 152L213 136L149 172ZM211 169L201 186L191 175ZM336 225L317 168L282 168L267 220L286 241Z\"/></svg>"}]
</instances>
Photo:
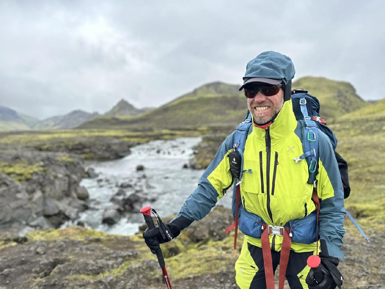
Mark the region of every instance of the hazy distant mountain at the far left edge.
<instances>
[{"instance_id":1,"label":"hazy distant mountain at the far left edge","mask_svg":"<svg viewBox=\"0 0 385 289\"><path fill-rule=\"evenodd\" d=\"M0 130L28 130L38 121L39 119L37 118L17 113L17 111L5 106L0 106Z\"/></svg>"}]
</instances>

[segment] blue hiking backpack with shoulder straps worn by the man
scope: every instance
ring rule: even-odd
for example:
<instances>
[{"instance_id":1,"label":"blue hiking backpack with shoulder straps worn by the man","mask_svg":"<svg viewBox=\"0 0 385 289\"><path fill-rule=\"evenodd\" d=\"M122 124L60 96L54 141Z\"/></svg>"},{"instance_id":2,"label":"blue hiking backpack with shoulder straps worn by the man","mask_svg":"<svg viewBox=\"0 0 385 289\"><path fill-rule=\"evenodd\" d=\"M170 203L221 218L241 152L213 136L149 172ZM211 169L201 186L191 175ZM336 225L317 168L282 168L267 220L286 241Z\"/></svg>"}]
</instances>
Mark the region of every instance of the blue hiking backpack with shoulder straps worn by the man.
<instances>
[{"instance_id":1,"label":"blue hiking backpack with shoulder straps worn by the man","mask_svg":"<svg viewBox=\"0 0 385 289\"><path fill-rule=\"evenodd\" d=\"M295 117L301 125L302 131L302 146L303 153L298 156L295 161L306 160L308 164L309 170L309 178L308 183L315 183L316 175L318 172L318 129L320 129L323 133L328 136L330 139L331 145L333 147L333 151L335 153L335 157L338 163L338 169L341 175L341 182L343 185L344 199L349 197L350 195L350 185L348 178L348 164L346 161L338 154L335 149L337 146L337 139L335 134L331 129L326 126L326 121L320 116L320 102L315 96L312 96L304 90L294 90L291 96L291 100L293 103L293 112ZM246 144L246 138L248 134L253 129L253 121L251 118L251 113L248 111L246 118L244 121L239 124L236 128L234 134L234 151L229 153L229 163L230 163L230 171L235 180L238 180L238 183L234 185L233 190L233 203L232 203L232 212L235 222L231 224L226 230L226 233L229 233L234 227L236 229L235 240L234 240L234 249L236 247L236 236L238 231L238 218L240 208L242 207L242 202L239 202L240 198L240 188L239 184L241 183L243 176L243 151ZM240 164L240 166L239 166ZM370 242L368 237L362 231L358 223L354 220L352 215L346 210L346 215L352 220L354 225L363 235L363 237Z\"/></svg>"}]
</instances>

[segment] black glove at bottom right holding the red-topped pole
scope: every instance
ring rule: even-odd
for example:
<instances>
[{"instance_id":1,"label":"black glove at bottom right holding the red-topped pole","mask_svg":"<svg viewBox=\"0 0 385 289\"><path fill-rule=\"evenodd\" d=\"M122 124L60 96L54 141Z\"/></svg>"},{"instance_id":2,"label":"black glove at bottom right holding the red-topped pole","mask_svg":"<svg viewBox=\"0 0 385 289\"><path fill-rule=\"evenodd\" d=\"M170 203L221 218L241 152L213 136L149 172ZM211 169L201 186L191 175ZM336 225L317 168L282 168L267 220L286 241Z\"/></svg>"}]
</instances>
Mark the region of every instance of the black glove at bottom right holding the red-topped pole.
<instances>
[{"instance_id":1,"label":"black glove at bottom right holding the red-topped pole","mask_svg":"<svg viewBox=\"0 0 385 289\"><path fill-rule=\"evenodd\" d=\"M320 269L323 275L322 281L315 281L314 269L311 268L306 277L306 284L310 289L335 289L337 286L341 289L343 276L338 271L337 266L340 260L338 258L320 253Z\"/></svg>"}]
</instances>

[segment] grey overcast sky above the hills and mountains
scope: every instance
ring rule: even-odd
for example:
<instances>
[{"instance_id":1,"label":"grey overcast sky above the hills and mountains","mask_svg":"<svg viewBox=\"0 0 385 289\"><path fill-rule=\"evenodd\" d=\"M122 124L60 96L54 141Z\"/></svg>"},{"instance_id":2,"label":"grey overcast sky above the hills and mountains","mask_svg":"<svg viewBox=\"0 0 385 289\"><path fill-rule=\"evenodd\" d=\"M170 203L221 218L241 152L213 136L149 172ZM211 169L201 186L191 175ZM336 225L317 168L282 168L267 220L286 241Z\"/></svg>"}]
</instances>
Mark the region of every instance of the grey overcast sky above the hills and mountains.
<instances>
[{"instance_id":1,"label":"grey overcast sky above the hills and mountains","mask_svg":"<svg viewBox=\"0 0 385 289\"><path fill-rule=\"evenodd\" d=\"M384 11L380 0L0 0L0 105L39 119L122 98L160 106L208 82L240 84L265 50L290 56L295 79L382 99Z\"/></svg>"}]
</instances>

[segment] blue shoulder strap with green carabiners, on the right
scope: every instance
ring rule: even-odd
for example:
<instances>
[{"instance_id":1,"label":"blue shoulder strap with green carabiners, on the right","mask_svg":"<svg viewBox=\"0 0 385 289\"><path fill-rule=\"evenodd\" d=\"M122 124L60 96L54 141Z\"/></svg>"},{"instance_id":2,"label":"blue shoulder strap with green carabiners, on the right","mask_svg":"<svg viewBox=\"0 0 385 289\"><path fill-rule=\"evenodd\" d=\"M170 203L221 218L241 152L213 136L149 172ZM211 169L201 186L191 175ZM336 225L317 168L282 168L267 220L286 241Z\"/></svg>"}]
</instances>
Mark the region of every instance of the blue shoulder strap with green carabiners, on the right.
<instances>
[{"instance_id":1,"label":"blue shoulder strap with green carabiners, on the right","mask_svg":"<svg viewBox=\"0 0 385 289\"><path fill-rule=\"evenodd\" d=\"M318 128L316 123L310 118L308 110L306 108L306 98L300 99L301 112L303 114L303 120L299 120L302 128L302 146L303 155L295 158L295 162L306 159L308 163L309 179L308 183L314 183L318 169Z\"/></svg>"}]
</instances>

